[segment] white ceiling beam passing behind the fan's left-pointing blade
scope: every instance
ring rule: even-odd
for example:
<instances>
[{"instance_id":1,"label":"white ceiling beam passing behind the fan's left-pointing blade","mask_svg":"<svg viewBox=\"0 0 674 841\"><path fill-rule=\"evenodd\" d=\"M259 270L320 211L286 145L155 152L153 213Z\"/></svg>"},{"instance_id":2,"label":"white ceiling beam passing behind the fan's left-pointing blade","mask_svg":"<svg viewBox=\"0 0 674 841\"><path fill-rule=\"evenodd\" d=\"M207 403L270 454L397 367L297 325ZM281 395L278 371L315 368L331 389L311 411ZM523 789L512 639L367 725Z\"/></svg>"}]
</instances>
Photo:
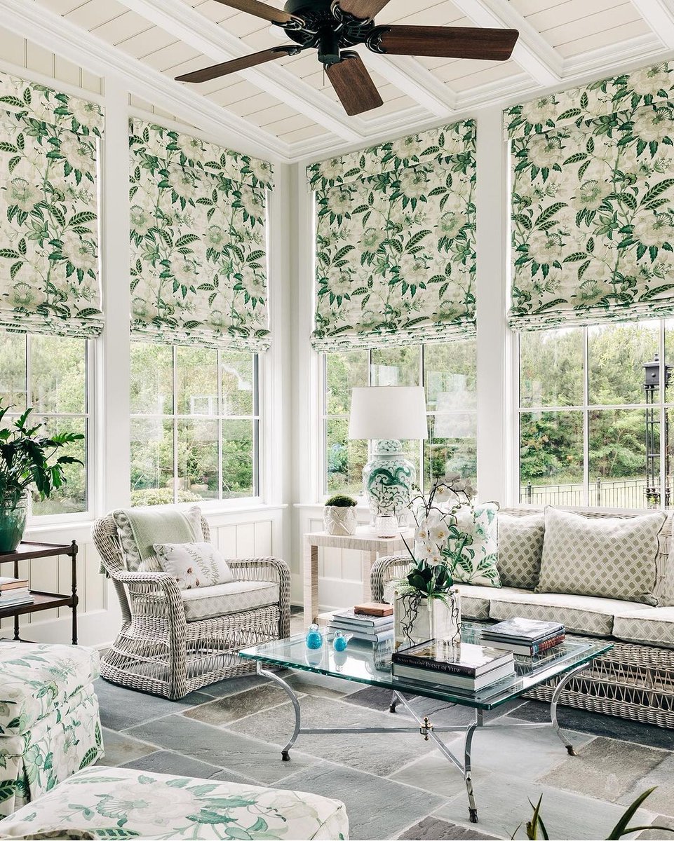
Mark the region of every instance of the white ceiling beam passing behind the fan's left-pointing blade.
<instances>
[{"instance_id":1,"label":"white ceiling beam passing behind the fan's left-pointing blade","mask_svg":"<svg viewBox=\"0 0 674 841\"><path fill-rule=\"evenodd\" d=\"M121 3L215 63L247 56L251 52L235 35L182 0L121 0ZM366 131L359 130L359 121L349 118L340 104L333 103L283 66L260 66L241 71L239 75L342 140L358 142L366 137Z\"/></svg>"}]
</instances>

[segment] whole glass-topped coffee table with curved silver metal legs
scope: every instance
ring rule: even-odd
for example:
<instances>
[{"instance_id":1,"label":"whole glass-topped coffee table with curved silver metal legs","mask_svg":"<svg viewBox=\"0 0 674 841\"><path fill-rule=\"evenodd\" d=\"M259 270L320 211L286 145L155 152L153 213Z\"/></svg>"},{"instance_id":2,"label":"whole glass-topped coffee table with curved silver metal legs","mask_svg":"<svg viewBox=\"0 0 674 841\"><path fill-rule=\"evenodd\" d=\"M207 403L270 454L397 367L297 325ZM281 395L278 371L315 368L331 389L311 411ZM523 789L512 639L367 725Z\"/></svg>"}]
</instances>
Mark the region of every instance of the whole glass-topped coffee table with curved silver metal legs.
<instances>
[{"instance_id":1,"label":"whole glass-topped coffee table with curved silver metal legs","mask_svg":"<svg viewBox=\"0 0 674 841\"><path fill-rule=\"evenodd\" d=\"M461 640L464 643L481 643L482 630L489 627L486 623L464 622ZM295 731L289 742L281 751L284 761L290 759L290 748L301 733L421 733L425 741L433 741L448 761L454 764L464 776L468 794L470 821L477 822L477 806L473 791L472 765L470 752L473 736L476 730L489 730L494 727L552 727L559 736L571 756L576 755L570 740L560 729L557 722L557 702L561 691L571 678L586 669L592 660L606 653L613 645L603 640L591 640L585 637L566 637L565 643L556 646L549 652L536 658L516 656L515 674L496 684L487 686L479 692L457 691L438 684L429 684L406 678L395 677L391 674L392 643L385 643L374 647L369 643L352 641L346 651L337 652L329 642L325 630L323 646L317 650L306 647L305 634L281 639L274 643L264 643L252 648L244 648L239 652L244 659L257 661L257 674L279 684L287 693L295 708ZM286 669L298 669L315 674L326 674L341 680L351 680L355 683L370 686L381 686L391 690L390 712L401 704L417 722L418 727L302 727L300 701L295 691L278 674L264 668L264 664L282 666ZM560 677L555 694L550 701L550 722L504 722L502 718L493 722L485 722L484 712L494 710L507 701L521 696L534 686L544 683L551 678ZM433 698L438 701L472 707L475 710L475 720L470 724L454 727L435 727L428 717L419 717L411 709L411 696ZM463 757L452 753L439 737L438 733L465 733Z\"/></svg>"}]
</instances>

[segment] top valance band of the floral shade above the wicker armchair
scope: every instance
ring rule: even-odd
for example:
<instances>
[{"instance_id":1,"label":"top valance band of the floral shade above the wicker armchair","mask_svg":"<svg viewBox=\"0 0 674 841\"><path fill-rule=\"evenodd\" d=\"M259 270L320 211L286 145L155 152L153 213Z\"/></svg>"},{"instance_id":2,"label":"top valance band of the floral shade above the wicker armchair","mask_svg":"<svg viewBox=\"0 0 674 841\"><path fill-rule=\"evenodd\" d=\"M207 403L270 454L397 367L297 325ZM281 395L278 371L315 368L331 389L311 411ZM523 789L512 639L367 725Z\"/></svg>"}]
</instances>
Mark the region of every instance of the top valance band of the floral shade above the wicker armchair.
<instances>
[{"instance_id":1,"label":"top valance band of the floral shade above the wicker armchair","mask_svg":"<svg viewBox=\"0 0 674 841\"><path fill-rule=\"evenodd\" d=\"M173 166L192 171L195 176L208 175L216 180L273 190L273 165L268 161L224 149L166 126L132 119L131 145L138 146L136 158L151 172L161 172L171 161Z\"/></svg>"}]
</instances>

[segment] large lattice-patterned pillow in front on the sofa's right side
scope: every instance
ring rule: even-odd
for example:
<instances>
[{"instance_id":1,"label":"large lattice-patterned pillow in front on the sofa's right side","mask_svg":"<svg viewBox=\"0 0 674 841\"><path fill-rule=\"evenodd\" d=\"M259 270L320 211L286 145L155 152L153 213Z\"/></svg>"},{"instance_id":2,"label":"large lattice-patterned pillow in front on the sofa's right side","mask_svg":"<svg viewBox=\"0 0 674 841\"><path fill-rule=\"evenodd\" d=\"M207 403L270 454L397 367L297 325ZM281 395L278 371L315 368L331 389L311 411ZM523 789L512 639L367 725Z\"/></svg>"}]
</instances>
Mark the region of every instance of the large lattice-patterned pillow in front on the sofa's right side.
<instances>
[{"instance_id":1,"label":"large lattice-patterned pillow in front on the sofa's right side","mask_svg":"<svg viewBox=\"0 0 674 841\"><path fill-rule=\"evenodd\" d=\"M545 509L537 593L597 595L657 605L658 537L666 515L584 517Z\"/></svg>"}]
</instances>

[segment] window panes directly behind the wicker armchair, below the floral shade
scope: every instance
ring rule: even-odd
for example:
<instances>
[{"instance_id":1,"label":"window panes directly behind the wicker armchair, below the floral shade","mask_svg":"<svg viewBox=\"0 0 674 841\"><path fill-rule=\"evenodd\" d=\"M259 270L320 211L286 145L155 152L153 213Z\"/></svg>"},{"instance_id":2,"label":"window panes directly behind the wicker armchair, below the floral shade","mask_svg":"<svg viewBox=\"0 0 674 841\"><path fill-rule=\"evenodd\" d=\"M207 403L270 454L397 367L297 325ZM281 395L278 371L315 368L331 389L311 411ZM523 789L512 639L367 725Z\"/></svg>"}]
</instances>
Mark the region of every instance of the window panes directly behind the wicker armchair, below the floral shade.
<instances>
[{"instance_id":1,"label":"window panes directly behind the wicker armchair, below the floral shade","mask_svg":"<svg viewBox=\"0 0 674 841\"><path fill-rule=\"evenodd\" d=\"M257 355L131 342L131 503L259 494Z\"/></svg>"}]
</instances>

